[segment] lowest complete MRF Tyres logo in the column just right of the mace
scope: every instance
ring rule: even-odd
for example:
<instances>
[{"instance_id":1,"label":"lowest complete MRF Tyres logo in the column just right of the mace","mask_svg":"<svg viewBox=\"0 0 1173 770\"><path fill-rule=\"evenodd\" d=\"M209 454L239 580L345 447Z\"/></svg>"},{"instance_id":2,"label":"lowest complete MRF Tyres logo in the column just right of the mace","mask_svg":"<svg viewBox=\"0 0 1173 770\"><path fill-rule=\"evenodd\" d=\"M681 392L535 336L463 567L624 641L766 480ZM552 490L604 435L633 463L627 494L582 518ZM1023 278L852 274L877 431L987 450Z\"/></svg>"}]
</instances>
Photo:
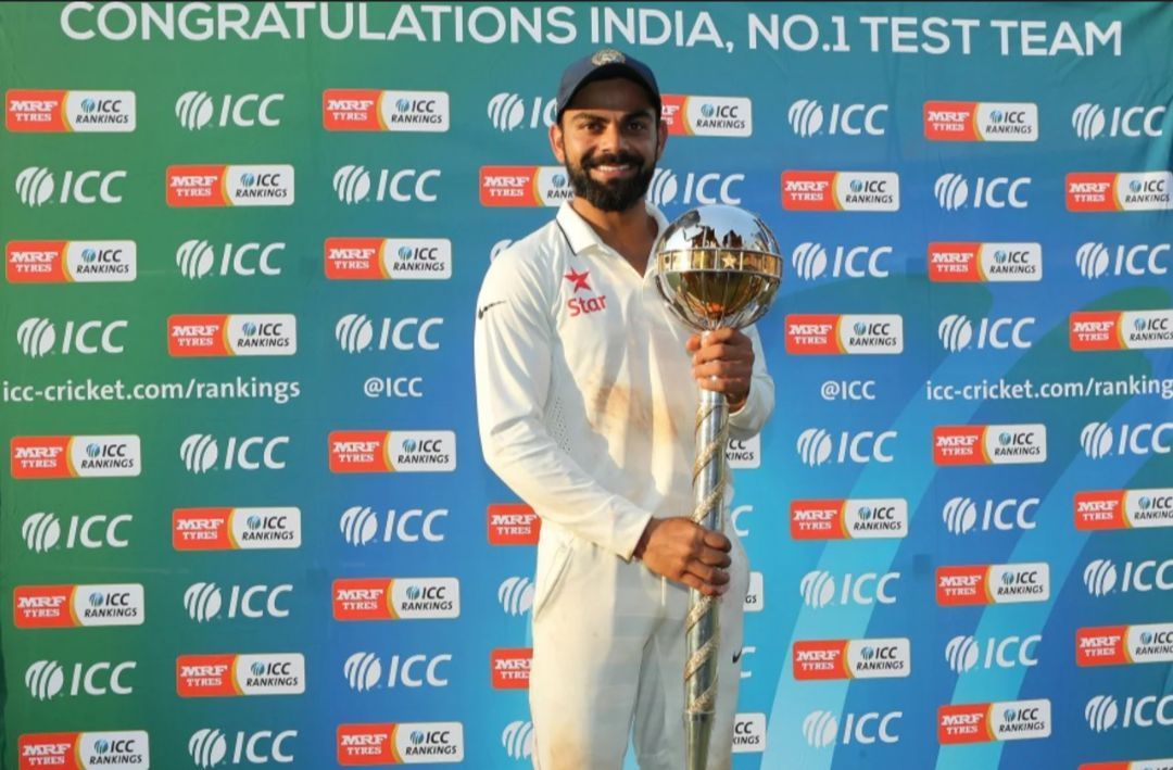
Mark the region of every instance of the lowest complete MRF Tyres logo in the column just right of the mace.
<instances>
[{"instance_id":1,"label":"lowest complete MRF Tyres logo in the column just right of the mace","mask_svg":"<svg viewBox=\"0 0 1173 770\"><path fill-rule=\"evenodd\" d=\"M904 677L913 669L903 637L794 642L791 661L798 681Z\"/></svg>"}]
</instances>

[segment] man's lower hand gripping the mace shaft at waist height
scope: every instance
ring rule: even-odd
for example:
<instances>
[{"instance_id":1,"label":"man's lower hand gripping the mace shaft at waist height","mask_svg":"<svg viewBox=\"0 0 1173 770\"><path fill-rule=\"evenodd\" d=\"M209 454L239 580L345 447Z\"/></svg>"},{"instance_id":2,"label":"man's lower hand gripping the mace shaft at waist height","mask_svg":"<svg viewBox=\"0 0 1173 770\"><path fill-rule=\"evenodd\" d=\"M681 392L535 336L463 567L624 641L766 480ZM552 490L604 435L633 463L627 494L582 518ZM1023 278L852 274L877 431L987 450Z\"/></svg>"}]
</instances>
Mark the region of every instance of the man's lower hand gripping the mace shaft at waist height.
<instances>
[{"instance_id":1,"label":"man's lower hand gripping the mace shaft at waist height","mask_svg":"<svg viewBox=\"0 0 1173 770\"><path fill-rule=\"evenodd\" d=\"M635 555L657 575L696 588L708 596L728 590L733 543L719 532L691 519L651 519L636 545Z\"/></svg>"}]
</instances>

